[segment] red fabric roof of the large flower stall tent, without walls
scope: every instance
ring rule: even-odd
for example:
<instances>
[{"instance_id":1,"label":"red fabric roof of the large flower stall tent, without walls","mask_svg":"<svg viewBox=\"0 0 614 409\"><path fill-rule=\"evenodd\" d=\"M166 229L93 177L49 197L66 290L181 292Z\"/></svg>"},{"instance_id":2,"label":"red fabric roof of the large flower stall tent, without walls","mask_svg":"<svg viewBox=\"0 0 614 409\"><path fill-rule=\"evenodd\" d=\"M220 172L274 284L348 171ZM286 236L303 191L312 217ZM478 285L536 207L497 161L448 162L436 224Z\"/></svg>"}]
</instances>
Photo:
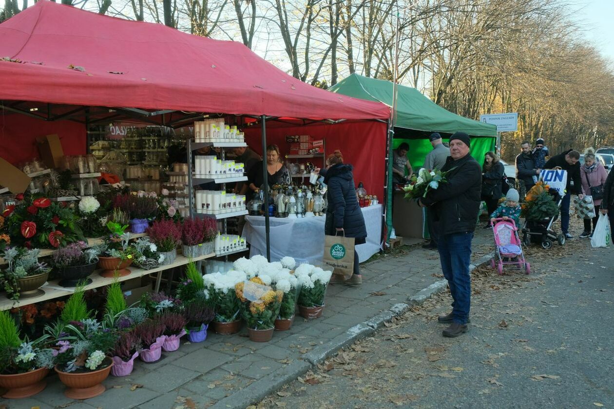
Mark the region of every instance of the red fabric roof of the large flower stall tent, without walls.
<instances>
[{"instance_id":1,"label":"red fabric roof of the large flower stall tent, without walls","mask_svg":"<svg viewBox=\"0 0 614 409\"><path fill-rule=\"evenodd\" d=\"M238 42L47 0L0 24L0 39L0 57L23 61L0 61L0 99L335 120L389 116L380 102L303 83Z\"/></svg>"}]
</instances>

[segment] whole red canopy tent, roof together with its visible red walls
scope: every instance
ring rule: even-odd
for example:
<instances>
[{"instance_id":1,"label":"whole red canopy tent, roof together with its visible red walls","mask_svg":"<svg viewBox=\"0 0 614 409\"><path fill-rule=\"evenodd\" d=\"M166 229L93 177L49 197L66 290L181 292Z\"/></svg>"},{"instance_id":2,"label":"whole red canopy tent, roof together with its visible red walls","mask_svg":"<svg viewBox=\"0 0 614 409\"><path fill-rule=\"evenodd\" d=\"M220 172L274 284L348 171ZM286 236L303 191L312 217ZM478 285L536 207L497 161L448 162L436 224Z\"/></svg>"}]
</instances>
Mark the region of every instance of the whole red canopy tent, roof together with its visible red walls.
<instances>
[{"instance_id":1,"label":"whole red canopy tent, roof together with its visible red walls","mask_svg":"<svg viewBox=\"0 0 614 409\"><path fill-rule=\"evenodd\" d=\"M0 156L14 163L31 157L36 137L52 132L77 154L85 153L89 124L136 118L179 127L212 113L259 117L263 142L265 120L356 120L343 127L356 140L344 142L350 162L363 141L386 144L386 105L310 86L243 44L163 25L41 0L0 24L0 56ZM360 126L363 120L375 124ZM74 121L85 124L82 131ZM357 179L362 172L381 175L373 187L381 194L384 155L358 167Z\"/></svg>"}]
</instances>

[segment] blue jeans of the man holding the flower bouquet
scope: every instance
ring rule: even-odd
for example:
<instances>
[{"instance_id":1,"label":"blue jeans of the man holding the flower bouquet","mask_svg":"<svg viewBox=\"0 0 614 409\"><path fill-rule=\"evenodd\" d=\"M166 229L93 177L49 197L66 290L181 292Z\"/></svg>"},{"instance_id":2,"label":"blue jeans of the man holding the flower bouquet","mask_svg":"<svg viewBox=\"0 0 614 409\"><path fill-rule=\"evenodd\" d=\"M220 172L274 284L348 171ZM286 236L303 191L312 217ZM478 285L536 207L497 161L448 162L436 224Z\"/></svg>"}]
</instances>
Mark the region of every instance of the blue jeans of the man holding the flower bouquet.
<instances>
[{"instance_id":1,"label":"blue jeans of the man holding the flower bouquet","mask_svg":"<svg viewBox=\"0 0 614 409\"><path fill-rule=\"evenodd\" d=\"M448 280L452 294L452 313L455 323L467 324L471 306L471 279L469 262L473 232L441 234L437 250L443 276Z\"/></svg>"}]
</instances>

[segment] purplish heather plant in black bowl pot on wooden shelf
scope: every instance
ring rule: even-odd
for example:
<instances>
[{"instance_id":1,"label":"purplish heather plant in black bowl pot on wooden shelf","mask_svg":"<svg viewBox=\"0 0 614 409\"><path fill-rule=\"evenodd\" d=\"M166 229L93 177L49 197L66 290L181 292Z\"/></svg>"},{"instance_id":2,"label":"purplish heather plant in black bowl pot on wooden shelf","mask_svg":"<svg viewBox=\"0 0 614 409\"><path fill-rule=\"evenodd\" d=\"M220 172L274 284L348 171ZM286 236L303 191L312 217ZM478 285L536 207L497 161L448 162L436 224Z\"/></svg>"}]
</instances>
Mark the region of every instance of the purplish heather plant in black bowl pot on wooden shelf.
<instances>
[{"instance_id":1,"label":"purplish heather plant in black bowl pot on wooden shelf","mask_svg":"<svg viewBox=\"0 0 614 409\"><path fill-rule=\"evenodd\" d=\"M81 280L91 284L91 278L87 277L96 269L99 251L98 247L87 248L85 242L71 243L54 251L51 264L61 278L59 284L74 287Z\"/></svg>"}]
</instances>

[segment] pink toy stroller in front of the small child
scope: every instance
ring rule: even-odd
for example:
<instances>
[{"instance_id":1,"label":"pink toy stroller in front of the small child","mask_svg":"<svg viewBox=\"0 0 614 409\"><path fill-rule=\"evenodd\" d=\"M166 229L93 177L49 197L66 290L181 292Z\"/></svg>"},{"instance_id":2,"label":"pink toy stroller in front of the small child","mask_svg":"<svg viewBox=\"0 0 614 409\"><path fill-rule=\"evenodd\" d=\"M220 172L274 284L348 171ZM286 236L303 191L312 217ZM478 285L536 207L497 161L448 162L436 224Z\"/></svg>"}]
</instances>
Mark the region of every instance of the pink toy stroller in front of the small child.
<instances>
[{"instance_id":1,"label":"pink toy stroller in front of the small child","mask_svg":"<svg viewBox=\"0 0 614 409\"><path fill-rule=\"evenodd\" d=\"M491 222L491 226L495 236L495 256L491 259L491 267L494 269L496 264L497 272L503 274L503 264L505 264L515 266L516 269L524 269L524 272L529 274L531 266L524 258L516 223L512 219L499 218L495 219L495 223Z\"/></svg>"}]
</instances>

